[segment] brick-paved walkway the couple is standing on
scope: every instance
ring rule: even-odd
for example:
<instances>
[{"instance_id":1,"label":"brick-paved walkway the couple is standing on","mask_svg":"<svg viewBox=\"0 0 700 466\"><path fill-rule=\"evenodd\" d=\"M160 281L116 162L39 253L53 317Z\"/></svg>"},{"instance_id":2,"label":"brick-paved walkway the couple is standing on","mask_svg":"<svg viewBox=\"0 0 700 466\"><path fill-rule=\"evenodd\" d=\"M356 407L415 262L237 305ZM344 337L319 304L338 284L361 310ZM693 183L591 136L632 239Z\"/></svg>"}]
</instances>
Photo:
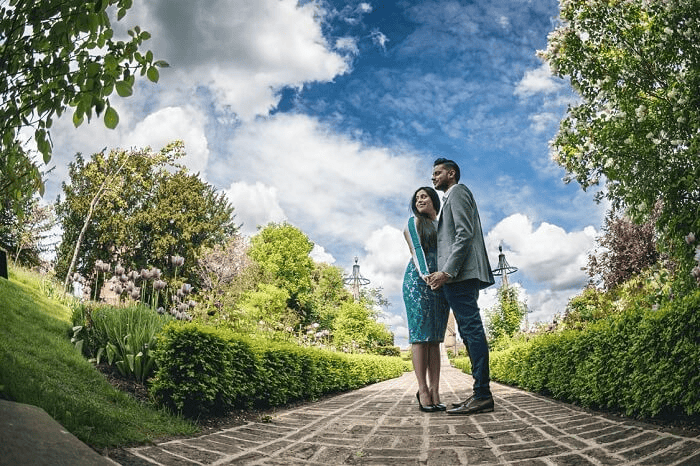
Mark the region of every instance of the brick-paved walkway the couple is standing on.
<instances>
[{"instance_id":1,"label":"brick-paved walkway the couple is standing on","mask_svg":"<svg viewBox=\"0 0 700 466\"><path fill-rule=\"evenodd\" d=\"M442 401L472 379L443 367ZM278 411L269 422L129 449L143 464L700 465L700 437L614 420L493 384L493 413L423 413L412 373ZM135 459L135 458L134 458Z\"/></svg>"}]
</instances>

